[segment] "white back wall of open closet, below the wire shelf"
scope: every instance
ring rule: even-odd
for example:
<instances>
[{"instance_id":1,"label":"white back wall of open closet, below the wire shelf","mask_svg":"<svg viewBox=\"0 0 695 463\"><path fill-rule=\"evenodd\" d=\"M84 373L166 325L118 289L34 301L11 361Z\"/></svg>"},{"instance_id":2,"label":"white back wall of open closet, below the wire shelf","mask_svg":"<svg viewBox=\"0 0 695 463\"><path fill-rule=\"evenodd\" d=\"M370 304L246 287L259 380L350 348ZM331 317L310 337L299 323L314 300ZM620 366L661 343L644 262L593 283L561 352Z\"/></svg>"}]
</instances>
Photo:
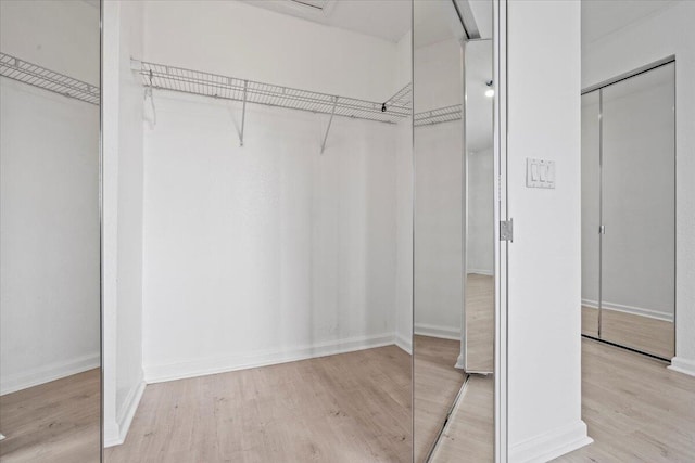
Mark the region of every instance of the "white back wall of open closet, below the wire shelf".
<instances>
[{"instance_id":1,"label":"white back wall of open closet, below the wire shelf","mask_svg":"<svg viewBox=\"0 0 695 463\"><path fill-rule=\"evenodd\" d=\"M395 127L156 92L148 382L393 344Z\"/></svg>"}]
</instances>

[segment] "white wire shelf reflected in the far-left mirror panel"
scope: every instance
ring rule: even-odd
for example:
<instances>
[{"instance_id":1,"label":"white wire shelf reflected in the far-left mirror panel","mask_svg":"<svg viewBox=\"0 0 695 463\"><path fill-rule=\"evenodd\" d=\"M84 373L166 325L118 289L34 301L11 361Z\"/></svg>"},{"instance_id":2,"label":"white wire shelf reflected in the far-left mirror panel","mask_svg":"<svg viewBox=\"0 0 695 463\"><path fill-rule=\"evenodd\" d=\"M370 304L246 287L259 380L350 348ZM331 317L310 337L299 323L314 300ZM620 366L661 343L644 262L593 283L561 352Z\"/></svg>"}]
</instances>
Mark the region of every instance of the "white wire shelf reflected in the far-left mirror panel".
<instances>
[{"instance_id":1,"label":"white wire shelf reflected in the far-left mirror panel","mask_svg":"<svg viewBox=\"0 0 695 463\"><path fill-rule=\"evenodd\" d=\"M99 87L0 52L0 76L99 105Z\"/></svg>"}]
</instances>

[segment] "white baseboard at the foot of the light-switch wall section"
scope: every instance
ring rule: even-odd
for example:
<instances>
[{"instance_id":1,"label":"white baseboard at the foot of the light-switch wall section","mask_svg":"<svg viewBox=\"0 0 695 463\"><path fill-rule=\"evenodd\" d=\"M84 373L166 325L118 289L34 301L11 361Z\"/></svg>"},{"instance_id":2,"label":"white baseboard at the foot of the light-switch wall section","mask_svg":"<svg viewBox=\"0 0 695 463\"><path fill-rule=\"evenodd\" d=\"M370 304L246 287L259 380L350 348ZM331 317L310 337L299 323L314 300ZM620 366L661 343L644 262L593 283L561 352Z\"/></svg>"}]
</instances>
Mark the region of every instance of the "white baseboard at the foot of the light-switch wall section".
<instances>
[{"instance_id":1,"label":"white baseboard at the foot of the light-switch wall section","mask_svg":"<svg viewBox=\"0 0 695 463\"><path fill-rule=\"evenodd\" d=\"M586 435L586 424L580 420L513 446L509 448L509 461L545 463L593 441Z\"/></svg>"}]
</instances>

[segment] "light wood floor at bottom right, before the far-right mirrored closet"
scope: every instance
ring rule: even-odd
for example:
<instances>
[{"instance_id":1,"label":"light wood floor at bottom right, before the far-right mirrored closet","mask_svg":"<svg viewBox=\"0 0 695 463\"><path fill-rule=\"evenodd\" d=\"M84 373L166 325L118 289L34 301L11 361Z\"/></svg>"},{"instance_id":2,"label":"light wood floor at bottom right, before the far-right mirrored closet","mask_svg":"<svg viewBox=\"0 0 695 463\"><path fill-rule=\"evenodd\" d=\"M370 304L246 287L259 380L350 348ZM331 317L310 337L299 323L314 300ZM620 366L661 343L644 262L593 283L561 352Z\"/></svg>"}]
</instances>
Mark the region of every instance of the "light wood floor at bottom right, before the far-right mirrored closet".
<instances>
[{"instance_id":1,"label":"light wood floor at bottom right, before the far-right mirrored closet","mask_svg":"<svg viewBox=\"0 0 695 463\"><path fill-rule=\"evenodd\" d=\"M582 416L594 443L558 462L695 462L695 377L582 340Z\"/></svg>"}]
</instances>

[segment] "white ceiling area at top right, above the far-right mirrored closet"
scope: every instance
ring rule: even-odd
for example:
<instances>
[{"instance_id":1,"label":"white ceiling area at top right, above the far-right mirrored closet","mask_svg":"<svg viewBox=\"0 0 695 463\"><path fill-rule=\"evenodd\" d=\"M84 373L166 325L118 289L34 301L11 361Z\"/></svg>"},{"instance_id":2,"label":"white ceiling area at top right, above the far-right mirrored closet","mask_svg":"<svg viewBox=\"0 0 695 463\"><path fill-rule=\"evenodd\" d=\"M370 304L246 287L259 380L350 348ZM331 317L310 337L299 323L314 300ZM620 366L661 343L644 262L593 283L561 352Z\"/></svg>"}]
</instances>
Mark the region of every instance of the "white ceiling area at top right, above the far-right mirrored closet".
<instances>
[{"instance_id":1,"label":"white ceiling area at top right, above the far-right mirrored closet","mask_svg":"<svg viewBox=\"0 0 695 463\"><path fill-rule=\"evenodd\" d=\"M582 46L665 10L679 0L582 0Z\"/></svg>"}]
</instances>

